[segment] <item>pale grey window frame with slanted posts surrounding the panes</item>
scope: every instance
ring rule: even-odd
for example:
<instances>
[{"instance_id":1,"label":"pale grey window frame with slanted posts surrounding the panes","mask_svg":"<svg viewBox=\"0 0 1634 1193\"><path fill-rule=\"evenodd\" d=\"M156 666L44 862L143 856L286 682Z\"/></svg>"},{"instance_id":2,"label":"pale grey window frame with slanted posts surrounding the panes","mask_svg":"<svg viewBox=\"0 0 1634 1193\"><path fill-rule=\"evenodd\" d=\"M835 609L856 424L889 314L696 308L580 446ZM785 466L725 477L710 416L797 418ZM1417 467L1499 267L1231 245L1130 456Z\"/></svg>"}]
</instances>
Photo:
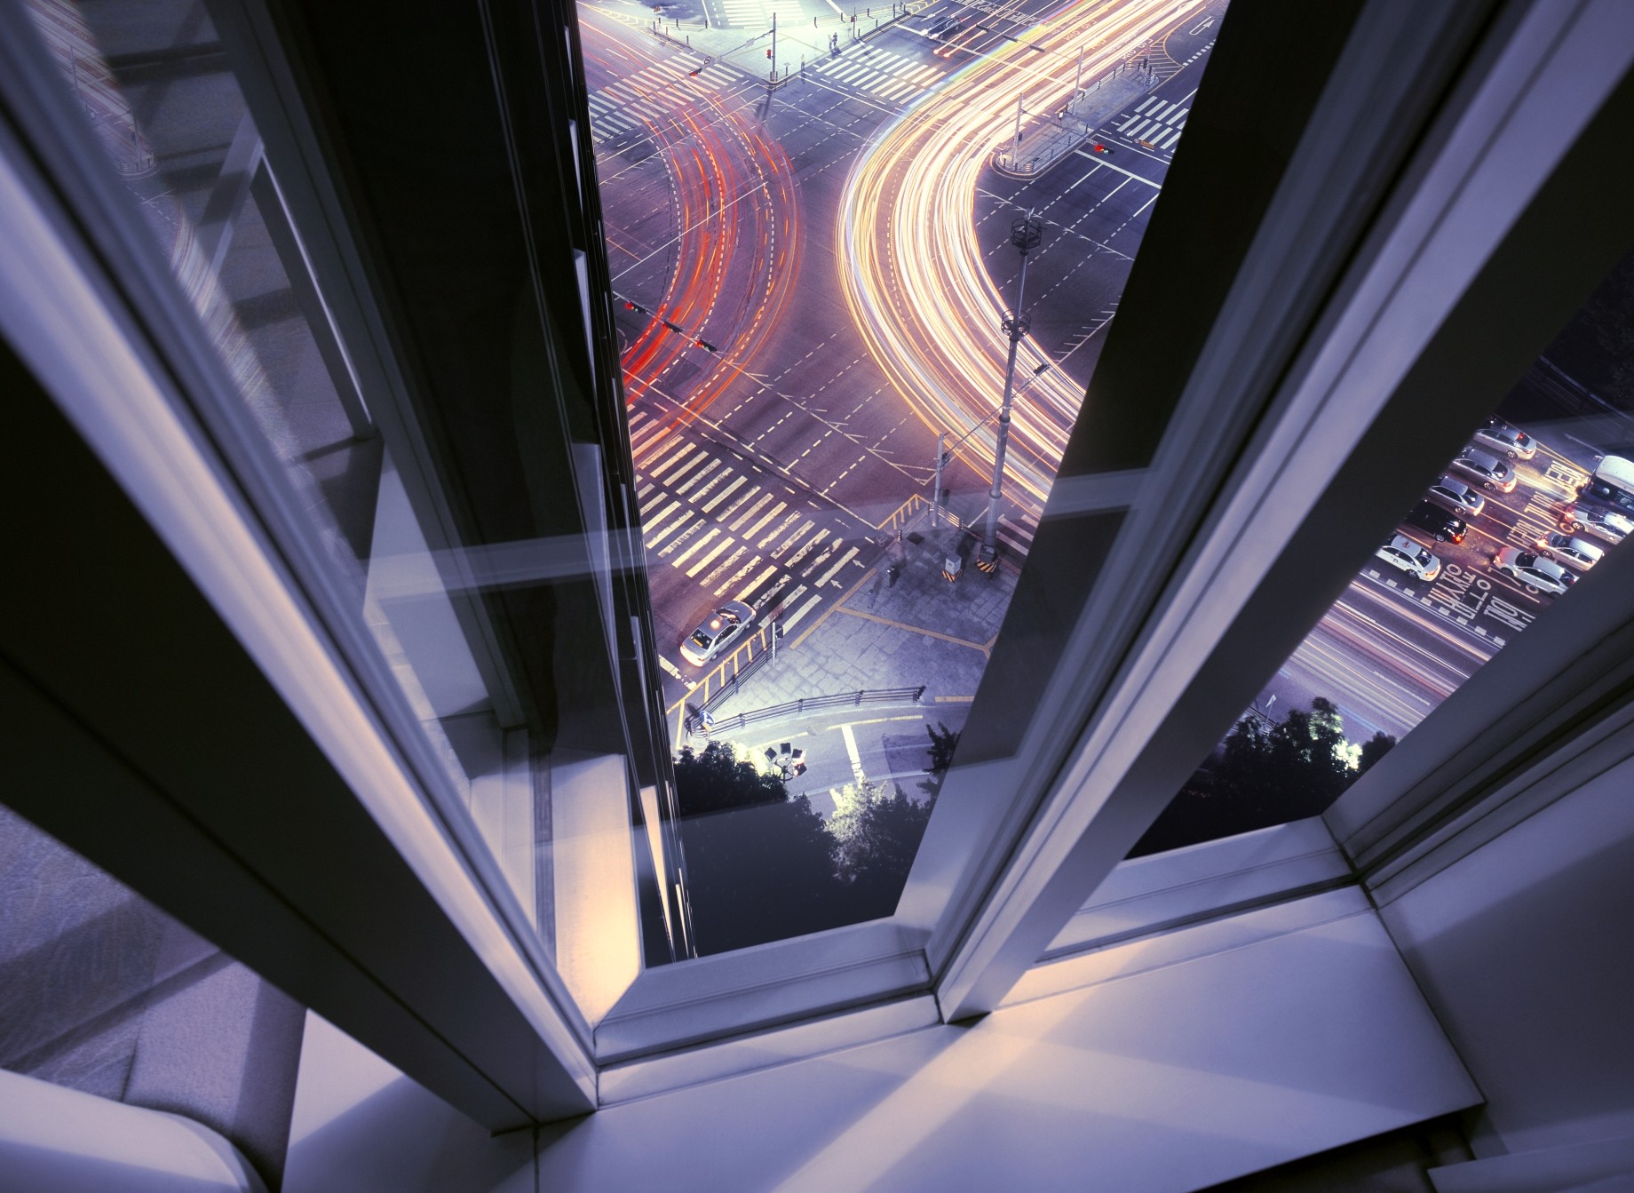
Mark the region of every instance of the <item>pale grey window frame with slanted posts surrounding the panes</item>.
<instances>
[{"instance_id":1,"label":"pale grey window frame with slanted posts surrounding the panes","mask_svg":"<svg viewBox=\"0 0 1634 1193\"><path fill-rule=\"evenodd\" d=\"M1629 216L1593 188L1585 198L1580 185L1585 176L1601 176L1605 167L1595 165L1596 152L1606 144L1626 144L1634 129L1627 83L1634 54L1606 33L1616 3L1585 0L1556 7L1516 0L1471 15L1474 8L1467 7L1438 42L1425 33L1422 7L1394 0L1361 5L1333 82L1309 113L1307 136L1266 214L1265 232L1235 270L1237 286L1229 299L1212 309L1209 340L1150 467L1064 476L1047 508L1046 526L1118 515L1116 541L1103 570L1108 577L1132 577L1134 587L1154 600L1131 601L1129 583L1116 585L1116 592L1103 585L1087 593L1070 632L1057 642L1065 659L1054 680L1057 699L1031 726L1026 752L961 763L948 776L949 794L959 786L1003 793L1005 830L992 835L985 853L971 858L956 840L966 825L953 812L943 815L941 827L933 825L926 837L926 851L915 865L895 920L649 969L592 1036L582 1017L564 1005L559 979L526 943L515 912L505 907L503 879L482 869L482 850L472 851L471 842L446 822L422 824L412 842L400 825L386 825L376 848L397 848L402 856L418 860L420 879L441 899L440 914L461 928L466 959L503 997L529 1008L520 1026L505 1026L500 1051L505 1043L529 1054L542 1048L539 1064L554 1066L551 1074L557 1082L546 1092L549 1097L538 1088L518 1088L484 1059L497 1054L492 1033L482 1048L462 1052L459 1041L472 1025L462 1021L458 1007L448 1005L449 999L458 1002L458 992L435 976L438 958L417 958L418 969L384 981L359 961L369 943L353 941L355 972L348 981L374 982L387 997L422 1008L407 1026L371 1034L359 1018L361 1003L304 985L292 976L288 958L279 959L291 933L333 936L335 923L301 928L279 922L276 932L260 930L265 936L260 943L250 930L219 943L229 951L237 943L243 959L263 967L270 981L324 1010L342 1030L376 1044L386 1059L479 1121L515 1124L495 1110L492 1098L472 1093L472 1074L503 1087L529 1119L547 1121L598 1101L606 1105L765 1064L765 1054L755 1048L763 1031L776 1028L779 1038L801 1039L796 1048L815 1054L874 1033L912 1030L926 1023L931 1012L941 1021L954 1021L992 1010L1042 956L1088 951L1129 932L1162 932L1178 922L1286 899L1343 882L1346 873L1387 879L1394 873L1389 866L1410 850L1436 848L1435 833L1467 814L1472 801L1489 799L1498 778L1546 765L1544 755L1567 739L1587 748L1592 739L1598 740L1601 724L1611 734L1614 722L1621 724L1616 717L1623 716L1627 691L1624 672L1614 668L1588 677L1592 691L1585 691L1588 703L1582 708L1598 711L1575 737L1559 724L1539 729L1541 735L1516 742L1505 763L1508 771L1469 766L1467 752L1474 747L1459 742L1409 739L1324 819L1328 829L1322 832L1332 830L1338 838L1350 856L1348 868L1338 865L1328 847L1317 847L1320 825L1301 822L1266 830L1257 842L1229 838L1196 851L1129 863L1121 876L1116 869L1178 786L1190 766L1181 763L1206 753L1247 703L1239 677L1248 675L1247 683L1257 683L1286 657L1291 629L1245 634L1243 628L1310 624L1355 574L1356 559L1366 556L1374 523L1394 523L1410 494L1448 458L1446 445L1490 410L1502 379L1516 371L1515 361L1529 358L1528 345L1546 340L1605 271L1614 250L1634 239ZM252 5L250 11L260 8ZM570 15L567 7L560 11ZM20 59L16 65L25 70L23 75L11 70L13 82L0 78L5 114L23 134L20 141L7 126L0 142L0 167L13 181L3 203L8 214L18 204L34 209L34 227L44 235L41 252L49 257L39 258L36 301L44 309L60 299L62 319L44 328L39 319L23 324L13 304L13 315L3 324L7 335L20 343L20 328L34 327L39 338L29 363L36 374L160 529L224 624L276 677L268 686L314 732L325 717L342 717L368 739L348 747L335 735L322 737L335 770L335 798L346 799L350 786L364 798L371 788L391 788L425 799L425 768L402 753L402 726L394 721L400 713L381 709L361 695L350 673L356 655L337 649L332 623L301 592L281 559L281 544L260 525L253 502L239 489L242 477L234 467L242 462L222 461L208 435L176 418L176 409L188 405L176 391L227 382L216 376L209 346L190 330L190 312L172 293L163 263L136 248L142 229L121 222L111 178L80 160L85 154L87 160L95 159L95 145L87 149L88 134L70 118L67 96L52 93L38 74L28 74L33 67L15 47L33 42L10 36L10 25L20 16L13 0L0 3L0 28L8 34L0 42L11 47L0 49L0 62L10 69L7 59ZM1379 77L1381 56L1413 52L1418 56L1405 59L1391 78ZM1440 108L1422 106L1415 88L1425 78L1448 88ZM575 87L582 119L582 85ZM255 93L247 88L247 98ZM276 88L261 101L271 103L275 95ZM299 111L288 95L276 101ZM263 119L263 111L252 111ZM1384 119L1381 113L1399 113L1402 119ZM294 124L289 118L286 131ZM1209 136L1204 124L1188 131L1188 139L1204 141ZM1552 142L1539 142L1538 152L1516 170L1492 176L1505 137L1515 136L1507 131L1528 124L1552 126ZM60 141L56 149L44 144L46 132ZM310 188L322 178L314 145L301 144L306 136L309 131L296 129L294 149L312 176L292 180L286 172L281 186ZM1389 163L1381 170L1389 176L1359 186L1355 159L1366 154L1376 163ZM41 173L31 173L36 167ZM1484 239L1471 237L1467 224L1453 227L1459 203L1472 201L1471 188L1477 183ZM1394 193L1381 199L1387 185ZM1328 198L1333 193L1361 198L1337 206ZM1572 212L1570 235L1552 232L1549 276L1538 293L1515 302L1513 281L1525 276L1516 273L1516 261L1528 248L1521 237L1534 235L1539 224L1564 211ZM113 232L87 227L88 216L109 221ZM1299 229L1299 235L1288 235L1289 227ZM332 252L345 255L343 229L330 232L337 239ZM127 244L111 245L109 235L123 235ZM1299 284L1289 286L1289 278ZM1422 289L1413 291L1415 284ZM60 294L52 294L52 288ZM1131 311L1119 324L1137 319ZM1418 330L1402 335L1391 351L1377 353L1371 373L1359 369L1356 361L1369 345L1368 337L1392 319L1410 319ZM1477 319L1495 319L1515 333L1505 337L1492 360L1480 361L1472 384L1453 400L1436 404L1423 443L1400 451L1394 436L1404 410L1448 376L1458 350L1484 342L1472 327ZM75 361L78 348L92 338L113 355L103 363L101 358ZM592 346L605 351L605 345ZM1387 384L1381 384L1381 371L1389 374ZM1343 387L1364 382L1371 392ZM116 399L139 402L150 425L162 430L158 446L190 461L198 489L194 502L208 512L209 526L201 529L196 512L183 508L175 490L165 490L168 462L154 451L155 443L139 443L136 430L111 418ZM78 400L92 404L75 413ZM1212 471L1188 469L1186 461L1199 458L1204 443L1239 445L1240 454L1219 459ZM1291 466L1296 445L1297 469ZM1364 489L1358 502L1356 485L1364 474L1377 484ZM1253 544L1243 529L1247 515L1263 508L1273 494L1286 502L1278 512L1284 529ZM1315 562L1301 567L1289 544L1299 544L1310 528L1343 520L1353 507L1361 510L1355 518L1358 526L1333 534L1312 552ZM1176 516L1175 508L1186 515ZM1039 543L1039 551L1049 549L1046 534ZM1154 551L1152 543L1162 549ZM250 561L276 592L258 600L227 574L224 559ZM1585 592L1574 596L1574 605L1590 596L1606 606L1605 619L1593 623L1601 629L1619 616L1627 619L1626 601L1609 595L1613 580L1606 579L1623 570L1627 569L1609 561L1601 564L1595 572L1605 574L1601 580L1585 577L1580 585ZM1552 631L1546 632L1549 624L1534 626L1489 668L1503 664L1500 675L1520 672L1529 655L1554 639ZM302 644L304 670L279 659L289 641ZM1511 657L1521 662L1511 664ZM1592 670L1582 655L1577 659L1578 667ZM650 670L650 659L644 668ZM1552 708L1547 701L1556 699L1557 685L1582 686L1585 675L1572 668L1544 678L1518 675L1502 691L1498 681L1482 678L1466 688L1471 696L1462 698L1461 691L1426 724L1438 717L1449 722L1492 716L1497 726L1503 717ZM980 711L979 695L972 714ZM1418 747L1418 740L1425 745ZM1456 781L1448 781L1448 771ZM954 804L948 801L949 809ZM198 827L188 817L198 815L208 822L212 812L188 806L176 825L167 829L175 833L178 850L183 829ZM203 856L214 848L235 861L253 860L253 842L235 837L230 825L222 833L214 842L190 840L185 850ZM64 840L77 845L72 825ZM1288 863L1286 881L1253 865L1253 848L1266 842L1284 850L1276 856L1279 865ZM116 842L100 842L96 848L93 860L111 873L139 873L141 881L132 882L137 889L155 881ZM387 863L382 853L381 865ZM1137 871L1152 912L1144 922L1124 922L1109 932L1096 918L1108 907L1105 899L1096 902L1096 891L1111 881L1105 891L1113 896L1116 884L1132 882ZM255 866L234 881L265 882ZM168 894L160 902L183 922L209 918L203 907L209 892ZM289 905L302 902L296 889L275 896ZM234 935L230 925L214 927ZM283 936L271 940L278 933ZM340 1013L330 1013L330 1007L340 1007ZM806 1034L788 1036L791 1030ZM433 1061L426 1061L428 1054L435 1054ZM781 1059L791 1056L779 1052Z\"/></svg>"}]
</instances>

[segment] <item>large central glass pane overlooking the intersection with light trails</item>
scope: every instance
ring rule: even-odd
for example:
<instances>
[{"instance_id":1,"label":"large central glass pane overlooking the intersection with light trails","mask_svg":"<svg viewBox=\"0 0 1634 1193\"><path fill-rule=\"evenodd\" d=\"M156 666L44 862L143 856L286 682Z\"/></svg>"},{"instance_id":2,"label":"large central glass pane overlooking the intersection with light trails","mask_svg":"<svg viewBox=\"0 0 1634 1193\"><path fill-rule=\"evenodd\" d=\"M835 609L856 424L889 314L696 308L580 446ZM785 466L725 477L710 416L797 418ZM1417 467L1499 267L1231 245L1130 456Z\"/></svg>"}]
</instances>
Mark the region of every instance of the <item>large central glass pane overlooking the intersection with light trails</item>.
<instances>
[{"instance_id":1,"label":"large central glass pane overlooking the intersection with light trails","mask_svg":"<svg viewBox=\"0 0 1634 1193\"><path fill-rule=\"evenodd\" d=\"M1222 11L580 8L701 951L895 909Z\"/></svg>"}]
</instances>

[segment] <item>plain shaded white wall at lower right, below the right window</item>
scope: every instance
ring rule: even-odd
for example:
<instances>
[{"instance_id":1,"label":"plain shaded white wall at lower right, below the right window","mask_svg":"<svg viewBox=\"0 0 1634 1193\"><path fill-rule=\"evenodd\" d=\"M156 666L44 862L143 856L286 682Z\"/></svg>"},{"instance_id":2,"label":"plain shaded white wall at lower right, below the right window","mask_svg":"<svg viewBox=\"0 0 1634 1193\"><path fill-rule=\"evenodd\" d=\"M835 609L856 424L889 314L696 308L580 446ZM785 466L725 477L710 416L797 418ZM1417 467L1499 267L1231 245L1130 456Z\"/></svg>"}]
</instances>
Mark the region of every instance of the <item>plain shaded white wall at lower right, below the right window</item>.
<instances>
[{"instance_id":1,"label":"plain shaded white wall at lower right, below the right window","mask_svg":"<svg viewBox=\"0 0 1634 1193\"><path fill-rule=\"evenodd\" d=\"M1384 909L1487 1095L1477 1154L1634 1136L1634 762Z\"/></svg>"}]
</instances>

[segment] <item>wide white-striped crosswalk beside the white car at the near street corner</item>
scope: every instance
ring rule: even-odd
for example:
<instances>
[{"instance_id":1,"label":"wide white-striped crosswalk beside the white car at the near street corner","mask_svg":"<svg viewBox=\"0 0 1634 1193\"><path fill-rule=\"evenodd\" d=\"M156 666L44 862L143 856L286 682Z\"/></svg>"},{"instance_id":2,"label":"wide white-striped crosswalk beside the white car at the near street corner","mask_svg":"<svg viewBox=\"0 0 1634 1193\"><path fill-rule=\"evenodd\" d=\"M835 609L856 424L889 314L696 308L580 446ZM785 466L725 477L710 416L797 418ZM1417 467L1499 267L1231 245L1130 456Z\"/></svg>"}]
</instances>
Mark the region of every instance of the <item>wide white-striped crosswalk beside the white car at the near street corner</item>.
<instances>
[{"instance_id":1,"label":"wide white-striped crosswalk beside the white car at the near street corner","mask_svg":"<svg viewBox=\"0 0 1634 1193\"><path fill-rule=\"evenodd\" d=\"M641 410L629 427L650 572L755 608L778 596L786 631L863 575L873 528Z\"/></svg>"}]
</instances>

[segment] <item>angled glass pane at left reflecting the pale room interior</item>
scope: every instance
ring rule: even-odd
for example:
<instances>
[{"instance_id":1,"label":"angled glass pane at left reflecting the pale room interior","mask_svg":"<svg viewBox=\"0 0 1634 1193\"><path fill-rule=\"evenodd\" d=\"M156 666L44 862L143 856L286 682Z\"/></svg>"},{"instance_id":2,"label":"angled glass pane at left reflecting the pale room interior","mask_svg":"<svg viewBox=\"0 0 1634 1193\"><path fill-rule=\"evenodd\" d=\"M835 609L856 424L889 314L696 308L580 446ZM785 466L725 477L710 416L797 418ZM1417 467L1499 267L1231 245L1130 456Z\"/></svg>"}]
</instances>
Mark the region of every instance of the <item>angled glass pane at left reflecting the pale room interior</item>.
<instances>
[{"instance_id":1,"label":"angled glass pane at left reflecting the pale room interior","mask_svg":"<svg viewBox=\"0 0 1634 1193\"><path fill-rule=\"evenodd\" d=\"M225 366L230 397L188 395L208 407L201 422L240 476L273 462L273 492L248 492L299 582L320 593L319 614L332 631L356 631L337 641L387 732L405 742L479 874L493 876L485 882L502 910L538 933L582 1010L603 1013L639 972L644 946L668 959L676 928L663 914L662 837L636 811L626 757L618 623L603 606L608 549L578 521L562 529L564 518L595 523L603 508L601 456L559 430L531 454L516 446L557 413L539 384L536 289L441 294L433 319L497 328L503 343L456 361L467 368L458 402L436 405L431 384L412 397L394 389L387 368L359 364L358 343L371 345L363 335L348 343L335 314L374 299L343 293L333 261L322 271L307 239L317 221L302 229L292 214L276 173L291 163L268 159L245 101L253 88L240 85L206 8L29 0L29 10ZM492 85L487 74L479 83ZM456 198L440 193L461 227ZM528 276L521 219L464 227L498 229L516 250L484 255L467 232L451 235L451 248L395 240L395 281L440 252ZM404 373L431 355L428 340L415 343L423 356L397 361ZM475 438L485 467L462 467Z\"/></svg>"}]
</instances>

